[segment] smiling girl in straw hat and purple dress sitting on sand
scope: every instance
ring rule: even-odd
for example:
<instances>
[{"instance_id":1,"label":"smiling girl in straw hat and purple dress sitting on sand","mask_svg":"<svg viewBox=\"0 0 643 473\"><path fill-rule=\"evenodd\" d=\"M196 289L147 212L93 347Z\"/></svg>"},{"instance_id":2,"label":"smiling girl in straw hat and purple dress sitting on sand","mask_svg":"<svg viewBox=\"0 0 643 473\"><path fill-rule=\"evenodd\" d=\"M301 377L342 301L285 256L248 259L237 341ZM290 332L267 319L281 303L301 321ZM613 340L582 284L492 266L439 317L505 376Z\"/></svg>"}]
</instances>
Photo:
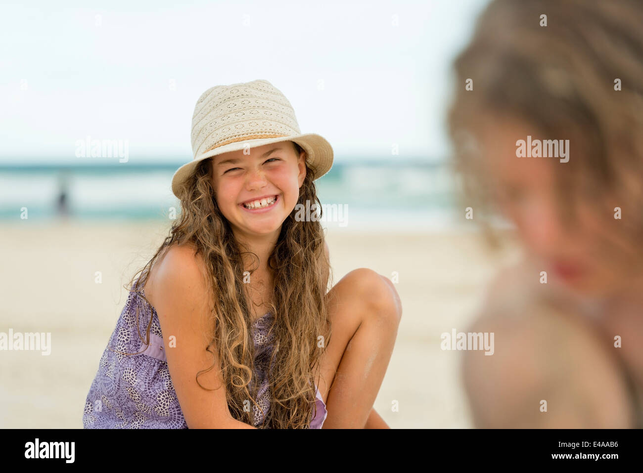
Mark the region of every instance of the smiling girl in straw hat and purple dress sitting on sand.
<instances>
[{"instance_id":1,"label":"smiling girl in straw hat and purple dress sitting on sand","mask_svg":"<svg viewBox=\"0 0 643 473\"><path fill-rule=\"evenodd\" d=\"M328 291L323 229L297 217L296 204L321 210L331 145L255 80L201 95L192 149L172 179L180 218L130 281L84 426L388 427L372 406L397 292L370 269Z\"/></svg>"}]
</instances>

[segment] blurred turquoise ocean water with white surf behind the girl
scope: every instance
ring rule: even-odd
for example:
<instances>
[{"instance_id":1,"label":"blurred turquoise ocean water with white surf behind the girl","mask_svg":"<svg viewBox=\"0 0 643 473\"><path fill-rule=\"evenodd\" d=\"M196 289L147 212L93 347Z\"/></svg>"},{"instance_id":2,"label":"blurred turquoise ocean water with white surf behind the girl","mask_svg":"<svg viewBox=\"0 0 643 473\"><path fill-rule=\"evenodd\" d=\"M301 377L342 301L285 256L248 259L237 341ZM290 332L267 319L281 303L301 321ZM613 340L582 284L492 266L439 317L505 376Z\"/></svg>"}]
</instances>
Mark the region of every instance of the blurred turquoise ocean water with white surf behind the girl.
<instances>
[{"instance_id":1,"label":"blurred turquoise ocean water with white surf behind the girl","mask_svg":"<svg viewBox=\"0 0 643 473\"><path fill-rule=\"evenodd\" d=\"M169 219L180 211L170 182L182 164L0 164L0 220ZM455 182L446 163L425 159L336 160L315 181L325 227L381 231L462 223Z\"/></svg>"}]
</instances>

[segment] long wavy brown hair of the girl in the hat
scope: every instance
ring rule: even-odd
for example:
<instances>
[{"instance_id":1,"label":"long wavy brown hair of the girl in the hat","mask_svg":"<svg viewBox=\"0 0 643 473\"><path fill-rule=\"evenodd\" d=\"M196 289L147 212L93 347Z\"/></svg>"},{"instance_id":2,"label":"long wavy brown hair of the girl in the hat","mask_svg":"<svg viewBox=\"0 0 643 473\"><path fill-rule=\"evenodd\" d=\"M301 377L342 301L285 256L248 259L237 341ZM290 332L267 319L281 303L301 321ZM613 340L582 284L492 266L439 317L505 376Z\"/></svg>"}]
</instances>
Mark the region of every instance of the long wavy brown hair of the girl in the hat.
<instances>
[{"instance_id":1,"label":"long wavy brown hair of the girl in the hat","mask_svg":"<svg viewBox=\"0 0 643 473\"><path fill-rule=\"evenodd\" d=\"M291 143L299 155L302 148L293 141ZM258 256L233 238L228 220L217 207L211 166L212 158L197 165L179 195L179 218L172 223L169 235L156 254L136 272L125 289L140 294L139 289L145 286L154 262L171 245L190 244L197 254L203 256L214 327L206 350L214 355L212 347L215 347L221 362L230 414L253 425L252 409L244 409L244 402L247 407L248 400L260 408L256 399L258 383L253 382L256 374L251 339L251 299L249 285L244 283L244 272L252 274L258 265L255 269L244 267L243 257L254 256L258 262ZM306 176L298 203L305 205L309 201L312 205L316 202L321 211L313 181L314 169L306 163ZM316 373L323 349L331 339L326 294L329 282L332 286L332 274L325 252L323 228L319 221L298 221L295 213L293 210L284 220L275 249L267 262L273 271L274 281L273 300L267 305L275 315L268 335L274 334L268 364L271 366L268 373L271 405L258 428L310 427L311 418L316 415ZM140 277L137 278L138 274ZM141 298L145 299L142 295ZM138 307L136 317L138 326ZM145 339L139 333L143 344L149 345L150 327L151 318ZM207 370L196 373L199 386L199 375L213 368L214 363Z\"/></svg>"}]
</instances>

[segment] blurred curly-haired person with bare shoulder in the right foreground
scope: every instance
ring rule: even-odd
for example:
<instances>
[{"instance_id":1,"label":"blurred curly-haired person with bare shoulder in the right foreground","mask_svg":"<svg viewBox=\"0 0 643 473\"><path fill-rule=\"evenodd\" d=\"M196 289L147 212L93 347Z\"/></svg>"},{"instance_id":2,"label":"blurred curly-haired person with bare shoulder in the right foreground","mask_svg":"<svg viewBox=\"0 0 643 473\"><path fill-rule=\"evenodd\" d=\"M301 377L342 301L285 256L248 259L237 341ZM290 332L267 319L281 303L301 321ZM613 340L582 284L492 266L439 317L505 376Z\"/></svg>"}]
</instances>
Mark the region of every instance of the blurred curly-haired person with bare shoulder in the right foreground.
<instances>
[{"instance_id":1,"label":"blurred curly-haired person with bare shoulder in the right foreground","mask_svg":"<svg viewBox=\"0 0 643 473\"><path fill-rule=\"evenodd\" d=\"M642 26L640 0L495 0L455 61L467 205L525 250L468 329L495 335L464 352L477 427L643 427Z\"/></svg>"}]
</instances>

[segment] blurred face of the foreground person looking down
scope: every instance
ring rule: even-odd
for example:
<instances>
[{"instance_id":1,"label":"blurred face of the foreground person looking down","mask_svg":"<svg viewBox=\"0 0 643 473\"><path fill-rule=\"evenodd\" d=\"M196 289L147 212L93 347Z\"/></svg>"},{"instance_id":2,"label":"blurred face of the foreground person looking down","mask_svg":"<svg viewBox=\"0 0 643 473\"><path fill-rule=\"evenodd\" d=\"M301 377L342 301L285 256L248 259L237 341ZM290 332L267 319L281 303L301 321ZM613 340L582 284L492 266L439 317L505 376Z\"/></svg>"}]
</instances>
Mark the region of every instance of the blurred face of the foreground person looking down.
<instances>
[{"instance_id":1,"label":"blurred face of the foreground person looking down","mask_svg":"<svg viewBox=\"0 0 643 473\"><path fill-rule=\"evenodd\" d=\"M622 289L624 277L606 242L619 233L619 220L605 224L600 210L590 205L589 195L560 195L556 192L556 173L563 172L556 157L516 157L516 141L565 139L565 136L539 136L534 127L517 119L485 120L478 130L484 169L493 183L494 200L505 217L514 222L518 234L538 266L547 271L547 283L561 283L578 292L601 296ZM577 142L576 142L577 143ZM577 143L578 145L578 143ZM583 159L582 151L570 139L569 159ZM583 192L583 191L578 191ZM591 192L587 189L586 192ZM577 220L572 225L561 221L559 210L565 202L577 202Z\"/></svg>"}]
</instances>

